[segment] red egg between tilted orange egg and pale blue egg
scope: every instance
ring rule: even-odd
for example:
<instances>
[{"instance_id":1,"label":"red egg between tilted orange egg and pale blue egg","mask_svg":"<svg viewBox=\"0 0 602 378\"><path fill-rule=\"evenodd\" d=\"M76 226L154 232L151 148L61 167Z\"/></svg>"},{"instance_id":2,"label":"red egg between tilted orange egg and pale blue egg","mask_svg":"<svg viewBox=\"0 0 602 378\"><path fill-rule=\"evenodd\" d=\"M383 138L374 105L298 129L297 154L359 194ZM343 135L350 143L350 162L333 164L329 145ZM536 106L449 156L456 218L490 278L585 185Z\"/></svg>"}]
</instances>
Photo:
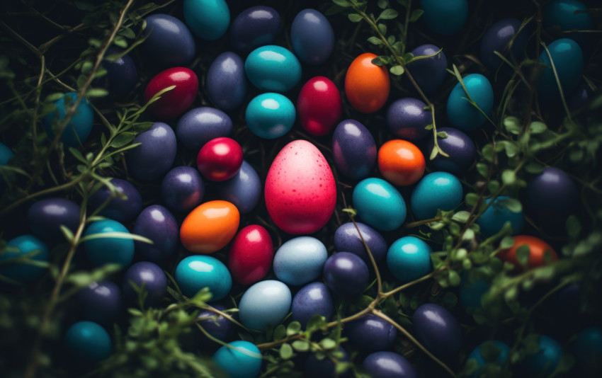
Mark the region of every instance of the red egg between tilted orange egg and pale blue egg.
<instances>
[{"instance_id":1,"label":"red egg between tilted orange egg and pale blue egg","mask_svg":"<svg viewBox=\"0 0 602 378\"><path fill-rule=\"evenodd\" d=\"M268 231L258 224L242 228L230 245L228 269L243 285L251 285L266 277L272 266L274 245Z\"/></svg>"}]
</instances>

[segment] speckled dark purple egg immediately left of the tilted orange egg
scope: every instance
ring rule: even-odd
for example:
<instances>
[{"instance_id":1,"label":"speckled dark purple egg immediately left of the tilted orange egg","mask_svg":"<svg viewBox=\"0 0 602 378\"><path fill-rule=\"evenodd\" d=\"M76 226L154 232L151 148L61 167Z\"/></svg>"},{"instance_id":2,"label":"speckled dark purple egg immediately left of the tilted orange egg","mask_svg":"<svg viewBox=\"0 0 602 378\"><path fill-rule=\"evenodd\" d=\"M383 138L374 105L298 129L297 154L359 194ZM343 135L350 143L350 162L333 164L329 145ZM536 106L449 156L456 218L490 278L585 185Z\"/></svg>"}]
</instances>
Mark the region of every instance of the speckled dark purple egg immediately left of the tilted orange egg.
<instances>
[{"instance_id":1,"label":"speckled dark purple egg immediately left of the tilted orange egg","mask_svg":"<svg viewBox=\"0 0 602 378\"><path fill-rule=\"evenodd\" d=\"M164 260L173 255L178 248L180 238L178 221L161 205L151 205L142 210L134 222L133 233L153 241L153 244L134 242L136 251L144 260Z\"/></svg>"}]
</instances>

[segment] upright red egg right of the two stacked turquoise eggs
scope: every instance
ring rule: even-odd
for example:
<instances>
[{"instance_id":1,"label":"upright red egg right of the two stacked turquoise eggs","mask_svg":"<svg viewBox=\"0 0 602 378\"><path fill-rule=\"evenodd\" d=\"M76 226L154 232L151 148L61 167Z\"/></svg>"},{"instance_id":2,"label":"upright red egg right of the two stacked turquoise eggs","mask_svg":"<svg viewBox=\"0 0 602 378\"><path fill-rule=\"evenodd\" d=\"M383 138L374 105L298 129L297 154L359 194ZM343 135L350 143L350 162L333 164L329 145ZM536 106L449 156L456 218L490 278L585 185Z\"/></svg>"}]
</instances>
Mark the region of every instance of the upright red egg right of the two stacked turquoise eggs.
<instances>
[{"instance_id":1,"label":"upright red egg right of the two stacked turquoise eggs","mask_svg":"<svg viewBox=\"0 0 602 378\"><path fill-rule=\"evenodd\" d=\"M342 107L339 88L324 76L309 79L297 98L301 126L319 137L329 134L341 120Z\"/></svg>"}]
</instances>

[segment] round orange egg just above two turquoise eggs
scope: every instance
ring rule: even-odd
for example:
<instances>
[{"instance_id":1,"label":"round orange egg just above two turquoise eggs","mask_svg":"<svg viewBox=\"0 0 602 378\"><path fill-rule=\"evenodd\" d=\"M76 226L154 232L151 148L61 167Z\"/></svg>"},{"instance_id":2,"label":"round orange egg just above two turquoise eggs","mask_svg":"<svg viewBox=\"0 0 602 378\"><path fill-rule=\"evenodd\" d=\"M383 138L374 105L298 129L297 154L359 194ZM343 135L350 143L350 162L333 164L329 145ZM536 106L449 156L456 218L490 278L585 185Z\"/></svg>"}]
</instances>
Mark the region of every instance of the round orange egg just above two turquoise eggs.
<instances>
[{"instance_id":1,"label":"round orange egg just above two turquoise eggs","mask_svg":"<svg viewBox=\"0 0 602 378\"><path fill-rule=\"evenodd\" d=\"M390 140L378 150L378 169L394 185L406 186L418 182L424 175L425 167L422 151L407 140Z\"/></svg>"}]
</instances>

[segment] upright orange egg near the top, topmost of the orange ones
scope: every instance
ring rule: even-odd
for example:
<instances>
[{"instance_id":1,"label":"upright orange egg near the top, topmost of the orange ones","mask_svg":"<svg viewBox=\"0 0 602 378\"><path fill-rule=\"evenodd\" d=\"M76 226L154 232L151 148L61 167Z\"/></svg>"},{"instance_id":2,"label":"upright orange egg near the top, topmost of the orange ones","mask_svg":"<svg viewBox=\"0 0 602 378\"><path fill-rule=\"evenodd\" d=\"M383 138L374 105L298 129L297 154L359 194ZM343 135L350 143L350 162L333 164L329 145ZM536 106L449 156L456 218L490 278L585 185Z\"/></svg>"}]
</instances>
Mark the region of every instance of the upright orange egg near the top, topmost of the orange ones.
<instances>
[{"instance_id":1,"label":"upright orange egg near the top, topmost of the orange ones","mask_svg":"<svg viewBox=\"0 0 602 378\"><path fill-rule=\"evenodd\" d=\"M375 57L370 52L356 57L345 76L347 99L362 113L374 113L385 105L389 97L389 72L387 67L372 64Z\"/></svg>"}]
</instances>

